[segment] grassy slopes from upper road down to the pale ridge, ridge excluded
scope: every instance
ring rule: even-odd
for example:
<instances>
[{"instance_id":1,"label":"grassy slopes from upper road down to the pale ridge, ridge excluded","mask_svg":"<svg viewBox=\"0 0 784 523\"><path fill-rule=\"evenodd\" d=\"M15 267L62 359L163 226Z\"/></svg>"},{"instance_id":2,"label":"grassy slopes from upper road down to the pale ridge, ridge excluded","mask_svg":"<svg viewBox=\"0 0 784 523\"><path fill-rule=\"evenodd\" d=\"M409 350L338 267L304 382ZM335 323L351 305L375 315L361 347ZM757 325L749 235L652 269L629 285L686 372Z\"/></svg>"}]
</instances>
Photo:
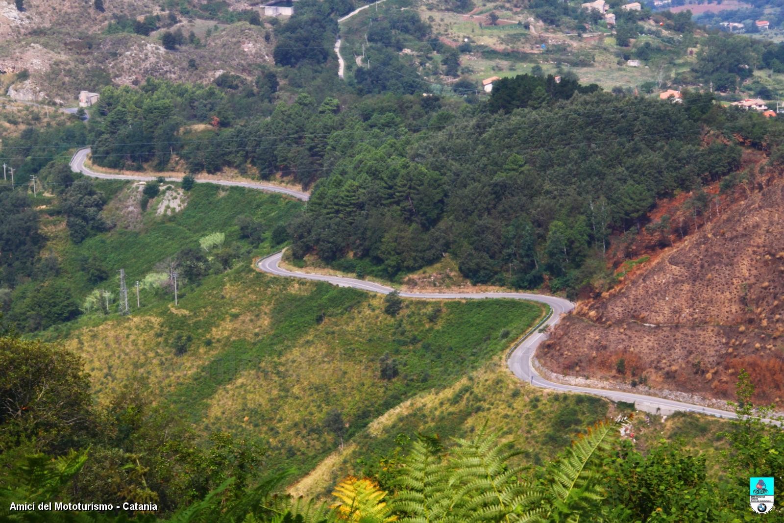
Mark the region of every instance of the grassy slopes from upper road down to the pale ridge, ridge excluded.
<instances>
[{"instance_id":1,"label":"grassy slopes from upper road down to the pale ridge, ridge excluded","mask_svg":"<svg viewBox=\"0 0 784 523\"><path fill-rule=\"evenodd\" d=\"M205 437L230 431L266 445L267 466L275 470L306 473L385 412L448 389L504 354L543 314L519 300L406 300L392 316L383 296L252 267L254 257L281 248L270 231L289 223L301 202L198 184L178 193L183 206L166 215L158 213L165 194L141 211L138 186L95 184L109 200L103 216L115 227L74 244L63 217L43 212L42 256L56 256L60 271L51 278L79 303L96 289L112 292L109 313L85 312L35 336L82 355L98 401L138 387ZM45 197L37 203L47 205ZM241 215L261 223L259 242L241 238ZM225 242L203 252L209 274L183 280L176 306L172 289L143 287L136 307L136 280L160 271L159 263L181 249L200 249L199 239L216 232ZM216 258L226 250L234 261L221 267ZM99 263L107 278L92 281L89 263ZM120 268L128 316L118 314ZM325 426L332 411L345 430Z\"/></svg>"}]
</instances>

